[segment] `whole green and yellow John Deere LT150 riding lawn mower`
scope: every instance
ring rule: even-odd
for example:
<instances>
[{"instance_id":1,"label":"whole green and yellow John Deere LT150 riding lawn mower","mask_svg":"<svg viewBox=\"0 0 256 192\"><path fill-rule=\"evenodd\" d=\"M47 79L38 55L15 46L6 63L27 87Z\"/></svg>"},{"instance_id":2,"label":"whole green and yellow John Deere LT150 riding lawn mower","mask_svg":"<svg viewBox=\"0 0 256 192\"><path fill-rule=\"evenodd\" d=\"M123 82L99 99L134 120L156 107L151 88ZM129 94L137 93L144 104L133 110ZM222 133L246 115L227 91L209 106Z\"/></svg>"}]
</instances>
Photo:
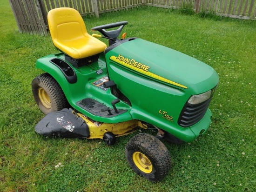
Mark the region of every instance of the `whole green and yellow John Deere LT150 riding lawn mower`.
<instances>
[{"instance_id":1,"label":"whole green and yellow John Deere LT150 riding lawn mower","mask_svg":"<svg viewBox=\"0 0 256 192\"><path fill-rule=\"evenodd\" d=\"M207 131L208 109L218 84L215 70L199 60L140 38L118 39L127 21L96 26L88 34L72 8L48 13L51 37L61 53L36 61L44 70L32 92L46 116L35 131L48 137L115 138L138 127L125 147L129 165L152 181L165 177L170 154L160 139L192 142ZM107 46L97 38L107 38Z\"/></svg>"}]
</instances>

